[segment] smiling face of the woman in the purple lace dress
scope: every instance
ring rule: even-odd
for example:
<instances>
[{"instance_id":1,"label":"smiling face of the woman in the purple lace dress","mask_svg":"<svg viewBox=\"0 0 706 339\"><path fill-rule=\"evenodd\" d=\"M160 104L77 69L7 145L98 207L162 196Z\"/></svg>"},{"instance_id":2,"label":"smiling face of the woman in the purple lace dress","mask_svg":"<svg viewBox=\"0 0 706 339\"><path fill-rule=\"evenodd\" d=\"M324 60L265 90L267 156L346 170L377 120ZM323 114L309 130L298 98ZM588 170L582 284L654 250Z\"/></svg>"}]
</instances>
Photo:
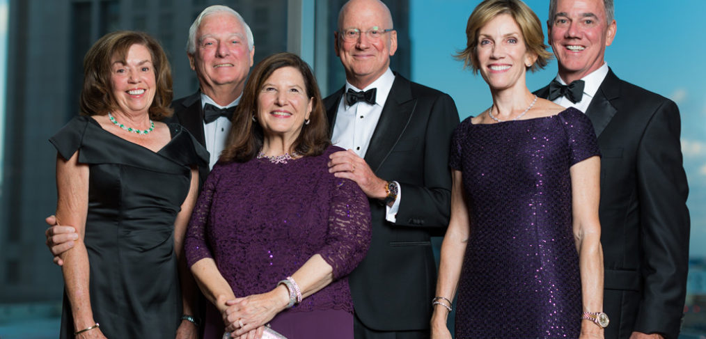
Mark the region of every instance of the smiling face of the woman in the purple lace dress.
<instances>
[{"instance_id":1,"label":"smiling face of the woman in the purple lace dress","mask_svg":"<svg viewBox=\"0 0 706 339\"><path fill-rule=\"evenodd\" d=\"M290 145L309 119L313 98L306 93L304 76L294 67L275 70L258 95L258 122L265 136L280 135Z\"/></svg>"}]
</instances>

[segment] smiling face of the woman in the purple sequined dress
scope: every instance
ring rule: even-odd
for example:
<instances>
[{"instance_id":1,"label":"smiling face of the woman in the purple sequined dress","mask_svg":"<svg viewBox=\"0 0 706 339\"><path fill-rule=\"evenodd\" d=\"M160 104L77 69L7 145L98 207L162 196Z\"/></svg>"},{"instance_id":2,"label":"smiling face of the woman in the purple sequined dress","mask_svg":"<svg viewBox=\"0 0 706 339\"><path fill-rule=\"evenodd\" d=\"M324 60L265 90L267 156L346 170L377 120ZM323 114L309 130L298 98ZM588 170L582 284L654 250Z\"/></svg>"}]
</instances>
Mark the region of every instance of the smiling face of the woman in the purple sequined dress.
<instances>
[{"instance_id":1,"label":"smiling face of the woman in the purple sequined dress","mask_svg":"<svg viewBox=\"0 0 706 339\"><path fill-rule=\"evenodd\" d=\"M509 14L500 14L478 32L479 71L493 90L525 85L525 72L537 56L527 52L520 26Z\"/></svg>"}]
</instances>

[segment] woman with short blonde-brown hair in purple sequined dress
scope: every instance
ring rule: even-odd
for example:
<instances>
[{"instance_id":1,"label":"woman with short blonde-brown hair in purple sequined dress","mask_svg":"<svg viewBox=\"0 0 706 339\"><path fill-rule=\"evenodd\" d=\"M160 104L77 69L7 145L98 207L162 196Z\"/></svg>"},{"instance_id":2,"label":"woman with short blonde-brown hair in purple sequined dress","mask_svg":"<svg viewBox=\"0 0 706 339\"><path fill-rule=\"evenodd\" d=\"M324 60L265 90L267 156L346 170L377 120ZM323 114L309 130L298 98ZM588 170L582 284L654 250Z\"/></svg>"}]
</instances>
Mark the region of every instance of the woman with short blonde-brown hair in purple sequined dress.
<instances>
[{"instance_id":1,"label":"woman with short blonde-brown hair in purple sequined dress","mask_svg":"<svg viewBox=\"0 0 706 339\"><path fill-rule=\"evenodd\" d=\"M520 0L471 14L459 59L488 83L493 105L453 135L451 218L431 320L455 338L603 338L582 312L602 311L599 148L590 120L537 98L542 25Z\"/></svg>"}]
</instances>

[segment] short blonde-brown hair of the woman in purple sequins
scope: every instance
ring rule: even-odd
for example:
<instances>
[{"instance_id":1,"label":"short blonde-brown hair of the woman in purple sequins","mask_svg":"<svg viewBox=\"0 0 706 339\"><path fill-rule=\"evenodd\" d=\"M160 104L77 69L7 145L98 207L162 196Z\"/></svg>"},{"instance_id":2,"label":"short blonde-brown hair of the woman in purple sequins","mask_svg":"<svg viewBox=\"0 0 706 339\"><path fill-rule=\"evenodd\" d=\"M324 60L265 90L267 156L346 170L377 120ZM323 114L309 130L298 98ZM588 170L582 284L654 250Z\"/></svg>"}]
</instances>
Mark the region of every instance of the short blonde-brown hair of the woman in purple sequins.
<instances>
[{"instance_id":1,"label":"short blonde-brown hair of the woman in purple sequins","mask_svg":"<svg viewBox=\"0 0 706 339\"><path fill-rule=\"evenodd\" d=\"M480 69L477 50L479 31L490 20L501 14L510 14L515 19L520 26L527 51L537 55L537 61L527 69L530 71L543 69L551 59L551 53L546 50L549 46L544 44L542 23L539 22L537 14L520 0L485 0L478 4L466 25L466 48L455 55L456 59L463 61L464 68L470 67L473 73L477 74Z\"/></svg>"}]
</instances>

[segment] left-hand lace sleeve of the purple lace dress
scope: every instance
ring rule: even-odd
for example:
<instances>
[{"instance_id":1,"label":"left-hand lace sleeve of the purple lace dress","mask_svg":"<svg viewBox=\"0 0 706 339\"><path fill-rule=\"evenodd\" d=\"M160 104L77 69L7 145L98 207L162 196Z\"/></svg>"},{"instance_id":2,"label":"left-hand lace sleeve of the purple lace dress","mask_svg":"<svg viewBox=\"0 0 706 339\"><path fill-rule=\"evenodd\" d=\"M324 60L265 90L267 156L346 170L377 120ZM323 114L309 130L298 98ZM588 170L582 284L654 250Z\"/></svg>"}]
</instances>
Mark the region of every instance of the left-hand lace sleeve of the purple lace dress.
<instances>
[{"instance_id":1,"label":"left-hand lace sleeve of the purple lace dress","mask_svg":"<svg viewBox=\"0 0 706 339\"><path fill-rule=\"evenodd\" d=\"M206 236L206 226L208 225L208 215L211 210L211 201L218 182L217 166L210 173L203 184L203 191L198 195L196 206L191 213L189 226L186 227L186 237L184 239L184 252L186 253L186 264L191 267L193 263L203 258L213 258L208 246Z\"/></svg>"}]
</instances>

